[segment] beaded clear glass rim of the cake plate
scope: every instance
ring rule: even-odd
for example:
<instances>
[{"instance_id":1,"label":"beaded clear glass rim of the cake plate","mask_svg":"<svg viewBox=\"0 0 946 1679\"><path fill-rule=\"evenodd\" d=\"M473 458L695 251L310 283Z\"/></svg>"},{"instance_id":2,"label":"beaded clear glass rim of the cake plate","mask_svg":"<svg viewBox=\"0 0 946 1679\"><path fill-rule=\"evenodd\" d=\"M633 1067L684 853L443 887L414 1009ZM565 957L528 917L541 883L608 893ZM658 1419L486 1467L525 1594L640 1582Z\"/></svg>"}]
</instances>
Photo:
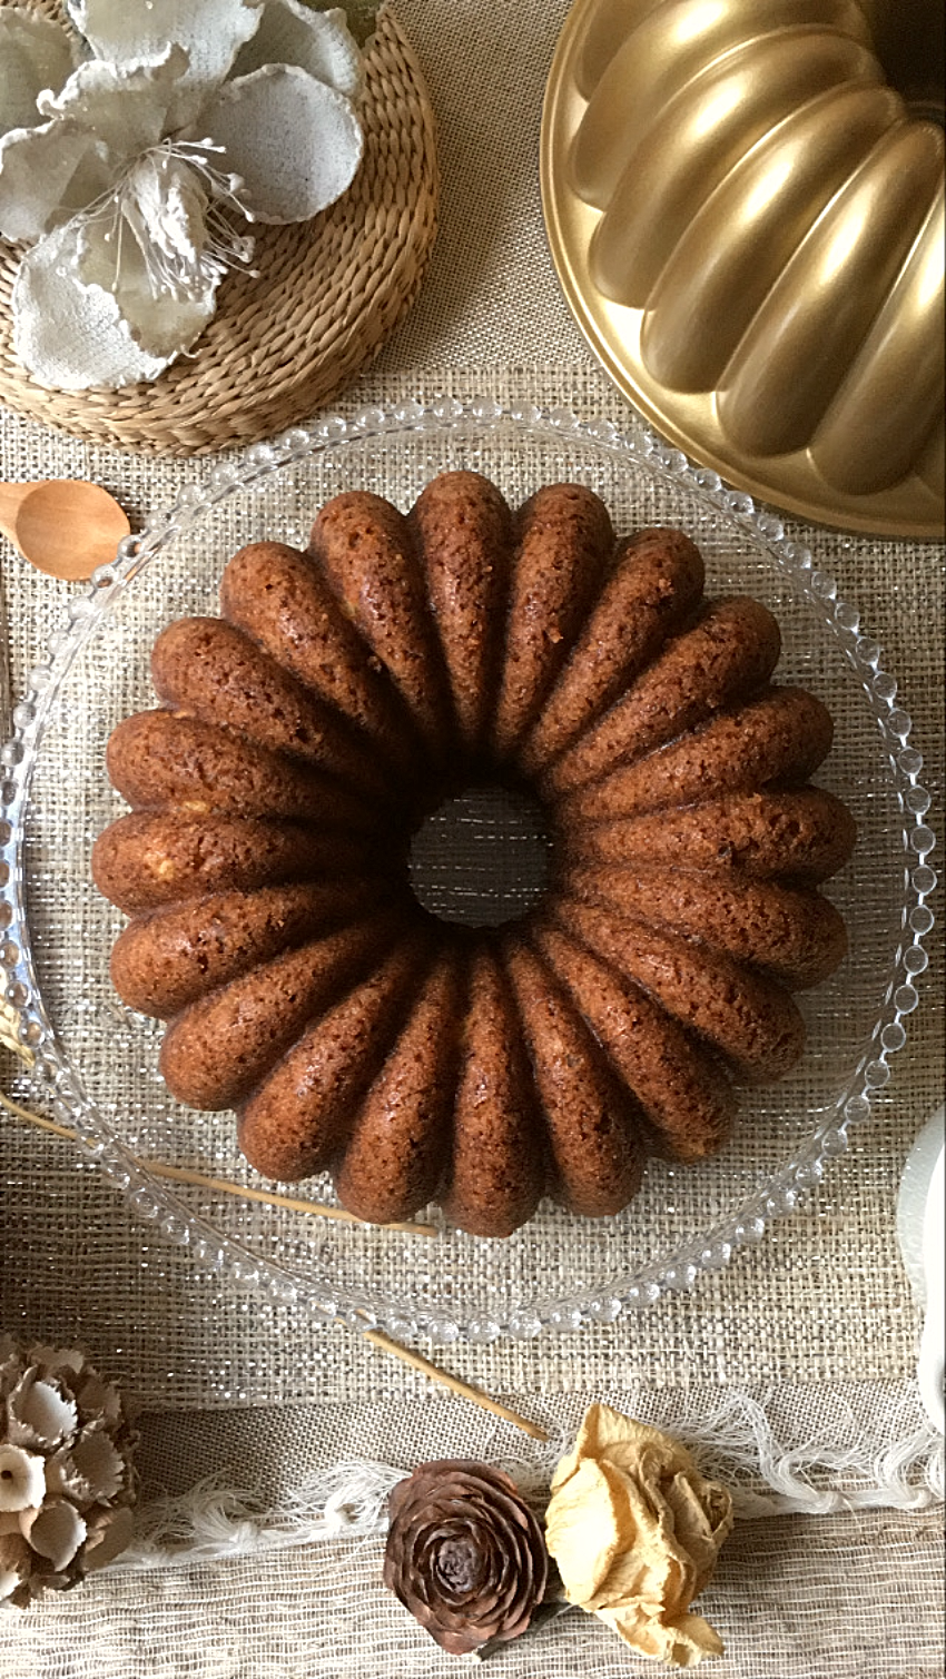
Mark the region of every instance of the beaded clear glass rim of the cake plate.
<instances>
[{"instance_id":1,"label":"beaded clear glass rim of the cake plate","mask_svg":"<svg viewBox=\"0 0 946 1679\"><path fill-rule=\"evenodd\" d=\"M832 1118L822 1123L807 1143L795 1150L788 1164L775 1170L759 1189L734 1211L719 1219L707 1234L687 1239L675 1253L654 1259L628 1276L627 1286L607 1291L585 1288L565 1301L541 1303L516 1310L506 1318L479 1318L459 1323L455 1315L430 1301L417 1316L405 1316L403 1303L381 1300L371 1293L346 1288L344 1298L333 1298L328 1279L316 1286L299 1283L286 1268L260 1261L239 1239L222 1234L213 1224L192 1212L175 1192L155 1179L109 1127L106 1117L86 1095L81 1076L62 1051L44 1007L37 982L30 928L25 910L25 816L29 787L44 727L54 698L74 658L96 633L104 613L141 568L190 529L210 509L237 492L265 482L281 467L313 455L334 452L351 440L405 438L422 432L455 432L476 426L477 433L519 430L524 435L593 443L617 457L635 457L659 479L682 482L687 492L743 529L771 557L778 571L818 606L837 643L860 678L870 712L880 729L889 756L892 786L902 813L906 890L902 937L894 957L886 997L877 1016L870 1049L859 1059ZM0 964L7 1012L27 1056L32 1054L32 1081L37 1096L50 1106L52 1118L76 1132L82 1157L97 1162L106 1177L119 1187L131 1209L161 1234L190 1251L193 1259L252 1291L264 1289L276 1303L304 1305L316 1320L343 1318L363 1330L381 1325L392 1333L423 1335L435 1342L491 1342L501 1335L531 1336L543 1330L575 1330L581 1323L613 1321L625 1311L652 1306L664 1293L689 1289L704 1271L723 1269L739 1249L756 1244L766 1226L791 1212L805 1190L820 1182L830 1160L849 1147L849 1128L870 1118L872 1098L891 1076L891 1056L906 1044L904 1021L917 1007L916 979L928 967L922 940L934 925L928 898L936 887L929 853L936 845L924 816L931 798L919 782L921 754L907 744L911 719L896 704L897 683L880 667L880 648L860 628L857 609L842 601L832 578L817 571L812 552L786 537L775 512L756 510L749 495L723 484L712 470L692 465L687 457L664 443L644 423L633 420L620 430L610 420L581 421L570 410L534 405L502 406L492 400L459 401L444 398L428 406L407 401L390 410L366 408L351 418L329 415L307 428L294 428L271 443L257 443L235 463L217 467L202 485L190 485L175 505L153 515L141 534L124 537L113 564L99 568L87 588L67 604L67 625L47 645L47 658L29 673L27 693L12 714L13 735L0 749Z\"/></svg>"}]
</instances>

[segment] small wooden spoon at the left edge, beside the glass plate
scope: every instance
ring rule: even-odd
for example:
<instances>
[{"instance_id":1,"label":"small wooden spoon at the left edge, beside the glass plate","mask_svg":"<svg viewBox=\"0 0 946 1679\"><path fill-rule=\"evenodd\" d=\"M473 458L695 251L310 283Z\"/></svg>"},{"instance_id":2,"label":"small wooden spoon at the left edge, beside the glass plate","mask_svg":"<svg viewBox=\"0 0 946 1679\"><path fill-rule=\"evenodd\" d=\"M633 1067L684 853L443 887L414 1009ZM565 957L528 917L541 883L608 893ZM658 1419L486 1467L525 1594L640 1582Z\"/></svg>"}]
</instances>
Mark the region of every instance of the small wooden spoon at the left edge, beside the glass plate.
<instances>
[{"instance_id":1,"label":"small wooden spoon at the left edge, beside the glass plate","mask_svg":"<svg viewBox=\"0 0 946 1679\"><path fill-rule=\"evenodd\" d=\"M0 531L30 566L77 583L114 559L131 526L101 484L40 479L0 484Z\"/></svg>"}]
</instances>

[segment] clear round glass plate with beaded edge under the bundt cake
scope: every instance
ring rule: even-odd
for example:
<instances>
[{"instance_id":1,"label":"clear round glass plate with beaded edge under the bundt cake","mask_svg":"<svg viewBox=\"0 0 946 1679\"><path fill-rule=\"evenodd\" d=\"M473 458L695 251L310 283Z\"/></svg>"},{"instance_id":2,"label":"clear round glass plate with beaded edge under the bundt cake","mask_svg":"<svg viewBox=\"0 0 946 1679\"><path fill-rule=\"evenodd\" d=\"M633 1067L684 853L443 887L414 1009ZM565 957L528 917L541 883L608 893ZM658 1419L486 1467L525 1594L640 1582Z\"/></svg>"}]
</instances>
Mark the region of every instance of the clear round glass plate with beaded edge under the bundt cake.
<instances>
[{"instance_id":1,"label":"clear round glass plate with beaded edge under the bundt cake","mask_svg":"<svg viewBox=\"0 0 946 1679\"><path fill-rule=\"evenodd\" d=\"M155 635L185 613L215 613L217 584L244 542L304 544L314 510L343 487L370 487L407 507L449 467L476 467L511 502L543 482L573 479L608 504L620 531L677 524L701 544L711 593L746 591L778 615L780 677L822 695L835 745L818 781L859 823L852 863L830 881L850 928L838 974L800 1002L808 1021L801 1066L748 1091L724 1153L699 1169L650 1162L627 1214L588 1221L543 1204L516 1236L491 1242L447 1229L434 1237L329 1224L287 1207L170 1184L176 1165L254 1185L229 1115L175 1103L156 1071L161 1028L114 997L108 954L123 917L89 878L94 836L119 813L102 767L111 729L153 705ZM504 411L491 401L408 403L328 418L257 445L187 490L170 514L128 537L113 566L69 604L47 662L13 714L0 787L3 898L0 959L20 1041L35 1056L37 1103L74 1128L136 1212L187 1246L202 1266L314 1313L383 1323L402 1335L492 1340L575 1328L691 1288L788 1214L870 1115L906 1043L926 967L929 798L911 720L854 606L812 556L758 514L748 495L696 470L644 426L618 433L566 411ZM331 1200L328 1180L302 1185Z\"/></svg>"}]
</instances>

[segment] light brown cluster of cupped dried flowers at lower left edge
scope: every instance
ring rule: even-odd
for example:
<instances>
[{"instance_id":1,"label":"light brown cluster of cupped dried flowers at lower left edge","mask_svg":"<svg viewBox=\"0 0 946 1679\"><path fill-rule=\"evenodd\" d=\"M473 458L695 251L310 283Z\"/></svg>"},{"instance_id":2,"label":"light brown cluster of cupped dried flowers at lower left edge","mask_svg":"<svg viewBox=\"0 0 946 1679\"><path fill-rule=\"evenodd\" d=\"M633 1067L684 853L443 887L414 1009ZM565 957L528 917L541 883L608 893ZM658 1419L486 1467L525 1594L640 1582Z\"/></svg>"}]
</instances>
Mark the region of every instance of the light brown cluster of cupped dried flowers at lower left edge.
<instances>
[{"instance_id":1,"label":"light brown cluster of cupped dried flowers at lower left edge","mask_svg":"<svg viewBox=\"0 0 946 1679\"><path fill-rule=\"evenodd\" d=\"M124 1550L136 1439L82 1352L0 1336L0 1602L24 1608Z\"/></svg>"}]
</instances>

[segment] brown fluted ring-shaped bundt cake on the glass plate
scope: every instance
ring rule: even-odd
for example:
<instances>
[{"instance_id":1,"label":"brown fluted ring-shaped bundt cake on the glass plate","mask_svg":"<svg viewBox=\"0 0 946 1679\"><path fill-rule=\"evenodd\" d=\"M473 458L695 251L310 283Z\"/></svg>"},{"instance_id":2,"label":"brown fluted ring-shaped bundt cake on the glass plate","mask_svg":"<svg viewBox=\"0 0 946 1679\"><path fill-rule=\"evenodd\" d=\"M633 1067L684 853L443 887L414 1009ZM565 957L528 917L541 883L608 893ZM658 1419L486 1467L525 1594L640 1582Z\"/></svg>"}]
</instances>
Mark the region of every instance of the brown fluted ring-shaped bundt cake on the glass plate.
<instances>
[{"instance_id":1,"label":"brown fluted ring-shaped bundt cake on the glass plate","mask_svg":"<svg viewBox=\"0 0 946 1679\"><path fill-rule=\"evenodd\" d=\"M235 1108L267 1177L328 1170L375 1222L439 1199L481 1236L544 1194L615 1214L647 1153L714 1153L845 954L818 885L854 823L808 784L832 722L773 680L773 616L702 591L684 532L615 541L578 484L512 512L476 472L235 554L223 616L158 636L161 709L108 745L133 809L92 853L171 1093ZM408 861L487 784L538 799L548 880L474 928Z\"/></svg>"}]
</instances>

